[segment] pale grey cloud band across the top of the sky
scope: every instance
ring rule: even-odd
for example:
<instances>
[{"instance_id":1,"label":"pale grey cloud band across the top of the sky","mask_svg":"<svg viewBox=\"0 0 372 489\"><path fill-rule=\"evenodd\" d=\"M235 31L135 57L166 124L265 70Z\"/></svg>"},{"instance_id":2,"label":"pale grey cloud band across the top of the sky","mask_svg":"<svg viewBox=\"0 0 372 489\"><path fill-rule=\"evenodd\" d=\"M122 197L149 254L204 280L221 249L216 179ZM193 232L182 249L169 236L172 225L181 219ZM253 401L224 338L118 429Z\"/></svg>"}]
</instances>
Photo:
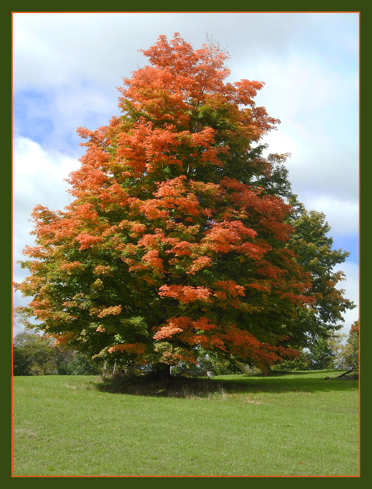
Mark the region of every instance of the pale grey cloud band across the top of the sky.
<instances>
[{"instance_id":1,"label":"pale grey cloud band across the top of the sky","mask_svg":"<svg viewBox=\"0 0 372 489\"><path fill-rule=\"evenodd\" d=\"M344 62L358 50L358 14L350 13L14 13L15 86L45 88L79 78L111 87L143 64L138 49L177 31L194 47L210 32L238 66L270 53L283 57L293 45L321 45L317 54L336 57L341 46Z\"/></svg>"}]
</instances>

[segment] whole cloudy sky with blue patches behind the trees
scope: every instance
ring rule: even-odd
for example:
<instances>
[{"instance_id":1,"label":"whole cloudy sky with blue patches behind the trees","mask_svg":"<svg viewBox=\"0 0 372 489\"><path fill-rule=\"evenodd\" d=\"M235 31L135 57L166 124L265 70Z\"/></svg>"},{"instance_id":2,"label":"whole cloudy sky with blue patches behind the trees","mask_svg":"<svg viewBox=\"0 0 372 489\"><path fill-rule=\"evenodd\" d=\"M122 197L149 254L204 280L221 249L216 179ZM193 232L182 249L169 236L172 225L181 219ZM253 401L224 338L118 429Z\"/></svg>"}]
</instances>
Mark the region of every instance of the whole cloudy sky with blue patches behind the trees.
<instances>
[{"instance_id":1,"label":"whole cloudy sky with blue patches behind the trees","mask_svg":"<svg viewBox=\"0 0 372 489\"><path fill-rule=\"evenodd\" d=\"M62 209L70 171L84 153L76 129L119 115L122 77L146 64L139 49L179 32L195 49L207 33L229 52L228 81L264 81L256 103L281 120L263 139L287 161L292 189L326 214L333 247L350 252L337 269L359 303L358 13L14 13L13 276L32 245L32 208ZM15 292L13 306L29 298ZM359 317L344 315L343 333Z\"/></svg>"}]
</instances>

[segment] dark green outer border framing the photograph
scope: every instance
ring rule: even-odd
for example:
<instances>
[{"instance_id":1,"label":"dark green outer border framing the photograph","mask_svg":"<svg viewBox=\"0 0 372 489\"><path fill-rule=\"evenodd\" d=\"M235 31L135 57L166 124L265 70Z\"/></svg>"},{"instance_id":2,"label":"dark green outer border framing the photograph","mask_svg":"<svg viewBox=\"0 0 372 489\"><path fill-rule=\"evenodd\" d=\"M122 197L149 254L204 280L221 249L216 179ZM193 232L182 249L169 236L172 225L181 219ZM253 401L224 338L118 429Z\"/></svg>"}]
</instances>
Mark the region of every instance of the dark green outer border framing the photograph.
<instances>
[{"instance_id":1,"label":"dark green outer border framing the photograph","mask_svg":"<svg viewBox=\"0 0 372 489\"><path fill-rule=\"evenodd\" d=\"M364 3L365 5L366 3ZM136 8L133 8L133 6L136 6ZM2 480L5 482L5 484L11 485L11 486L23 486L24 484L31 484L33 483L38 484L38 486L50 486L50 483L53 484L53 487L55 485L57 486L62 486L65 485L66 483L70 485L75 485L75 483L82 485L79 478L29 478L29 477L22 477L22 478L12 478L11 477L11 449L10 449L10 438L11 438L11 295L12 295L12 289L11 289L11 238L8 239L8 236L11 236L11 142L12 142L12 130L11 130L11 111L12 111L12 100L11 100L11 63L12 63L12 56L11 56L11 22L12 22L12 12L360 12L360 25L362 25L362 21L364 21L363 26L367 27L367 31L362 31L361 30L361 46L363 46L362 41L364 40L366 45L366 40L367 40L367 34L368 32L368 27L369 27L369 22L370 16L369 16L369 9L364 7L362 9L362 3L361 2L311 2L307 3L306 5L302 4L299 0L296 2L291 1L291 2L273 2L272 0L266 1L265 3L260 3L260 2L247 2L243 0L232 0L228 3L224 2L222 3L221 0L208 0L208 2L200 2L196 0L188 0L188 2L175 2L174 0L161 0L161 2L149 2L148 0L144 0L140 3L134 3L134 2L110 2L110 4L106 4L106 8L102 8L102 2L100 3L95 3L95 2L70 2L70 1L65 1L63 4L62 3L52 3L50 0L48 2L44 1L37 1L37 2L25 2L25 1L20 1L20 2L7 2L6 6L2 7L2 15L1 19L3 21L3 28L1 30L2 37L3 37L3 43L2 43L2 54L3 54L3 71L2 71L2 77L1 77L1 82L4 85L3 86L3 93L6 93L5 96L5 107L6 111L8 112L9 108L9 115L7 114L6 117L3 117L3 123L4 123L4 129L5 129L5 137L3 136L3 142L6 142L5 146L5 151L6 155L3 159L3 182L5 182L5 188L3 188L3 191L1 193L1 197L3 199L3 205L2 208L6 209L6 212L3 213L3 219L2 219L2 228L3 228L3 240L1 242L2 248L3 248L3 269L2 269L2 287L3 287L3 293L1 294L2 300L3 300L3 341L2 341L2 346L3 346L3 353L1 355L1 360L3 362L3 389L4 389L4 398L6 399L5 402L2 403L2 411L3 416L2 420L4 422L4 429L3 429L3 446L5 448L4 451L4 456L0 459L2 462L2 468L1 468L1 473L3 475ZM261 10L260 7L265 8L265 10ZM367 34L366 34L367 32ZM369 40L370 36L368 36ZM369 54L370 50L366 49L366 52ZM361 48L361 53L364 54L363 49ZM4 59L5 58L5 59ZM366 64L365 66L368 66ZM4 66L6 68L4 69ZM9 67L9 69L7 69ZM365 70L366 71L366 70ZM360 73L362 74L362 69ZM365 73L365 72L363 72ZM369 84L369 83L368 83ZM367 92L370 92L370 88L368 87ZM364 92L367 93L367 92ZM347 97L347 94L345 94L345 97ZM369 129L369 120L367 121L367 110L366 110L366 105L367 105L367 99L363 100L363 106L361 107L361 120L363 117L365 118L365 129L364 129L364 134L367 131L367 128ZM4 107L4 106L3 106ZM363 109L364 108L364 109ZM8 119L9 117L9 119ZM363 133L363 128L362 125L360 126L360 135ZM8 145L8 141L10 144ZM360 148L362 149L362 146L360 145ZM364 147L365 149L365 147ZM366 150L365 150L366 154ZM369 157L369 154L368 154ZM365 163L360 165L360 170L363 169L363 185L361 185L361 200L364 199L366 201L366 195L368 196L368 193L364 193L363 189L366 189L366 183L369 181L369 179L366 178L366 171L369 170L370 165L368 164L368 160L366 158ZM362 179L360 179L361 184L362 184ZM365 218L365 214L363 214L363 218ZM367 228L364 228L367 229ZM6 238L4 238L4 235ZM363 273L361 274L361 280L364 281L365 283L365 289L363 294L361 293L361 301L362 299L365 298L367 299L367 291L370 287L370 284L367 283L367 276L368 274L368 268L369 268L369 263L367 261L364 262L364 268L363 268ZM10 282L10 284L9 284ZM370 282L370 281L369 281ZM369 287L368 287L369 286ZM365 322L363 321L365 319ZM368 320L367 317L365 316L364 318L361 318L360 321L361 324L365 324L366 327L365 329L363 328L363 334L361 337L363 338L363 343L366 345L370 345L370 331L368 330ZM367 347L364 349L364 354L367 355ZM367 362L364 360L363 362L364 368L367 369ZM363 371L364 372L364 371ZM364 378L368 377L368 372L366 370L365 373L366 377L363 376ZM366 398L366 392L365 395L363 396L363 399ZM366 406L366 404L365 404ZM366 412L366 411L364 411ZM364 462L368 459L368 453L367 453L367 442L370 438L368 436L369 433L367 433L368 429L368 414L366 416L363 416L363 436L361 436L361 442L362 442L362 454L363 454L363 460ZM367 477L369 476L369 468L368 464L362 465L361 469L361 474L364 476L364 479L367 480ZM25 480L26 479L26 480ZM50 479L53 479L51 481ZM68 479L68 480L66 480ZM90 485L96 485L98 484L99 486L102 486L102 478L85 478L84 479L89 479L88 484ZM110 480L110 482L115 484L115 479L113 478ZM150 480L149 480L150 479ZM121 484L146 484L148 486L148 483L152 484L161 484L162 487L164 486L169 486L169 487L174 487L175 484L177 484L177 487L183 486L185 487L186 485L189 485L190 483L194 484L197 482L197 479L202 479L201 483L204 485L205 483L217 483L217 484L223 484L225 485L227 482L232 482L234 487L247 487L247 484L249 483L254 483L259 485L259 481L257 479L266 479L264 481L265 483L274 483L275 485L277 482L283 482L286 486L294 484L298 485L301 483L301 486L305 484L308 487L313 487L313 484L317 484L319 482L321 483L331 483L332 481L328 481L329 478L320 478L316 479L309 477L309 478L301 478L302 480L299 481L297 479L300 479L298 477L294 478L229 478L230 481L227 481L225 477L221 478L122 478L120 480L120 485ZM274 479L274 480L273 480ZM280 480L284 479L284 480ZM325 479L325 480L324 480ZM334 479L334 478L331 478ZM362 482L362 476L359 478L352 477L352 481L350 480L349 477L346 478L340 478L337 477L336 482L337 487L343 487L345 485L348 485L350 487L350 483L352 485L357 484L359 485ZM369 479L369 478L368 478ZM109 480L109 478L106 478L106 480ZM114 482L115 481L115 482ZM119 482L119 481L118 481ZM116 485L116 484L115 484Z\"/></svg>"}]
</instances>

